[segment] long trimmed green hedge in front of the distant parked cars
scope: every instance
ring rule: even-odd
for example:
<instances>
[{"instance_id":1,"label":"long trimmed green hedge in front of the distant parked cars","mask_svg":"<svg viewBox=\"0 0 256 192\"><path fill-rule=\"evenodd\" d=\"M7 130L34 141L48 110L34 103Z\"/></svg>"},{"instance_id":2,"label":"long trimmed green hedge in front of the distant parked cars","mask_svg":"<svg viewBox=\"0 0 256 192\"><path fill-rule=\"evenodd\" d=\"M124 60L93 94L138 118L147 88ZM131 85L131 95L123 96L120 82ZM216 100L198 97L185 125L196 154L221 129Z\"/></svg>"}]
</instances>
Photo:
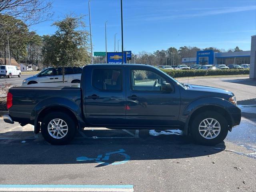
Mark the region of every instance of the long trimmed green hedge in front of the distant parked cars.
<instances>
[{"instance_id":1,"label":"long trimmed green hedge in front of the distant parked cars","mask_svg":"<svg viewBox=\"0 0 256 192\"><path fill-rule=\"evenodd\" d=\"M177 77L196 77L214 75L245 75L249 74L249 69L226 69L226 70L170 70L161 69L173 78Z\"/></svg>"}]
</instances>

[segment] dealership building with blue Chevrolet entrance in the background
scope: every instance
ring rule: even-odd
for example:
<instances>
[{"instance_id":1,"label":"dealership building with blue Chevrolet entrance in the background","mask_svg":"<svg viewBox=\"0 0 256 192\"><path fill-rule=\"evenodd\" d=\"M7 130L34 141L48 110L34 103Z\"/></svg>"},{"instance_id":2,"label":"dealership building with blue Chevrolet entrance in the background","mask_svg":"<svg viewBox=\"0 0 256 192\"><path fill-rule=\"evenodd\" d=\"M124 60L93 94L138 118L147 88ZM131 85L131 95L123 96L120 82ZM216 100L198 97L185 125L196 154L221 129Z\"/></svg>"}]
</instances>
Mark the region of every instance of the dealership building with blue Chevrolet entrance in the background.
<instances>
[{"instance_id":1,"label":"dealership building with blue Chevrolet entrance in the background","mask_svg":"<svg viewBox=\"0 0 256 192\"><path fill-rule=\"evenodd\" d=\"M194 58L182 58L182 64L219 65L219 64L250 64L251 51L218 53L213 50L196 52Z\"/></svg>"}]
</instances>

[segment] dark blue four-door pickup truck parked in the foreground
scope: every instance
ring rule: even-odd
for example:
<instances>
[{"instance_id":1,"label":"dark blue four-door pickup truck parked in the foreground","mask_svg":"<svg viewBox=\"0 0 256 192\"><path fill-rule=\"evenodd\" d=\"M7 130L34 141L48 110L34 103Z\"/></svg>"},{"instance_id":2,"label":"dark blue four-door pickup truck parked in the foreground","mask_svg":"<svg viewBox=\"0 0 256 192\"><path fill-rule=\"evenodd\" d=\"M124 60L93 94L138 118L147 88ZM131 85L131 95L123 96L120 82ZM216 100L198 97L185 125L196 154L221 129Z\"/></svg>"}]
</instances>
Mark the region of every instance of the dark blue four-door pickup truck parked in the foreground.
<instances>
[{"instance_id":1,"label":"dark blue four-door pickup truck parked in the foreground","mask_svg":"<svg viewBox=\"0 0 256 192\"><path fill-rule=\"evenodd\" d=\"M52 86L52 85L51 85ZM222 142L240 124L232 92L184 85L155 67L94 64L79 85L34 84L10 88L8 123L34 125L52 144L66 144L77 129L179 129L197 143Z\"/></svg>"}]
</instances>

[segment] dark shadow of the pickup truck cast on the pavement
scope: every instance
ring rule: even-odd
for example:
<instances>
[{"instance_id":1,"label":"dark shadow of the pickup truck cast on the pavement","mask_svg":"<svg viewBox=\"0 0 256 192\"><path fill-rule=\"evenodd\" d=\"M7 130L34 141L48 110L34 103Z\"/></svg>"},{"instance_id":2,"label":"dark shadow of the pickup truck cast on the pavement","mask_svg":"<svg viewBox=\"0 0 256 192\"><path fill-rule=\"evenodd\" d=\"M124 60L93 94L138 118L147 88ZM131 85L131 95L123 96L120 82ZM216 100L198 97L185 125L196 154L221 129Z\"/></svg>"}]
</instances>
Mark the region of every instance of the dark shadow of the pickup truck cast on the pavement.
<instances>
[{"instance_id":1,"label":"dark shadow of the pickup truck cast on the pavement","mask_svg":"<svg viewBox=\"0 0 256 192\"><path fill-rule=\"evenodd\" d=\"M23 131L22 134L29 133ZM224 142L217 146L202 146L194 144L186 136L151 136L148 130L140 130L139 138L75 138L70 144L62 146L51 145L42 138L3 139L2 133L0 138L2 165L92 164L91 166L100 167L139 160L165 159L179 163L179 158L209 156L226 148Z\"/></svg>"}]
</instances>

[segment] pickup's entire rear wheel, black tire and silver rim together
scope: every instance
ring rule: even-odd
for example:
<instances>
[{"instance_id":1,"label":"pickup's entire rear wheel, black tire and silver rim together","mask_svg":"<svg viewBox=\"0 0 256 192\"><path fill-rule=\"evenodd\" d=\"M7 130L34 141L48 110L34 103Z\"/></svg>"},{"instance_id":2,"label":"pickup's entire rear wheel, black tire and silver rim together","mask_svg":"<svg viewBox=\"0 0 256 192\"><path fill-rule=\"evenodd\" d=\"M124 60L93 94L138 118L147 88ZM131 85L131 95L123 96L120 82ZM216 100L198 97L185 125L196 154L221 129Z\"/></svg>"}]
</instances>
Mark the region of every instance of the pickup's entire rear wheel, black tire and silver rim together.
<instances>
[{"instance_id":1,"label":"pickup's entire rear wheel, black tire and silver rim together","mask_svg":"<svg viewBox=\"0 0 256 192\"><path fill-rule=\"evenodd\" d=\"M75 136L76 123L66 113L52 112L42 120L41 132L44 139L50 144L67 144Z\"/></svg>"}]
</instances>

